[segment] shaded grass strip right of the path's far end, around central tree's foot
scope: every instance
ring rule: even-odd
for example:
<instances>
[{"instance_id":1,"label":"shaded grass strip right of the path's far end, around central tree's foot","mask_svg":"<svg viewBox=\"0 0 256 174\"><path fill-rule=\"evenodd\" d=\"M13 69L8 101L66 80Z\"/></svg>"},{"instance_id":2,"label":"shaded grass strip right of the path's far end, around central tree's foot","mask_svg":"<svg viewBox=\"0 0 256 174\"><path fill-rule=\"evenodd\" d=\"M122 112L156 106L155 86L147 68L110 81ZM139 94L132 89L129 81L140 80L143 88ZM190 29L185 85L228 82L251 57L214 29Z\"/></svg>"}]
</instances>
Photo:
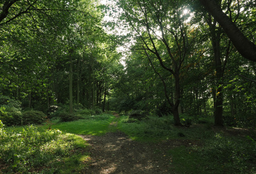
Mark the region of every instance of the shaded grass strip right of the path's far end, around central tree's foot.
<instances>
[{"instance_id":1,"label":"shaded grass strip right of the path's far end, around central tree's foot","mask_svg":"<svg viewBox=\"0 0 256 174\"><path fill-rule=\"evenodd\" d=\"M210 134L210 126L193 125L175 127L172 117L148 117L142 121L129 121L129 116L121 116L118 129L129 135L133 140L156 142L164 139L195 139L200 140Z\"/></svg>"}]
</instances>

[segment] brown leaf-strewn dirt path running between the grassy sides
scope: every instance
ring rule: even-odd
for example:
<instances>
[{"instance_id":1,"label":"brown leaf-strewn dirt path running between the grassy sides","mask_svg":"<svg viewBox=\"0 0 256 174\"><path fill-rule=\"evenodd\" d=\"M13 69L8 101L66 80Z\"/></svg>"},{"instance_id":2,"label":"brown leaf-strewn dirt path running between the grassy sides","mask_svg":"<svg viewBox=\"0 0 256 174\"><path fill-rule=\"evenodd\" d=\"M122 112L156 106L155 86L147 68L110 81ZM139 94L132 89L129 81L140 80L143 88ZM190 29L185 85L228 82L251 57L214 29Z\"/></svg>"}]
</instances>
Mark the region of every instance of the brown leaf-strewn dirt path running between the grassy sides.
<instances>
[{"instance_id":1,"label":"brown leaf-strewn dirt path running between the grassy sides","mask_svg":"<svg viewBox=\"0 0 256 174\"><path fill-rule=\"evenodd\" d=\"M117 126L118 114L109 129ZM90 144L91 164L84 173L175 173L171 148L191 145L188 140L167 140L160 143L143 143L131 140L120 131L103 136L80 135Z\"/></svg>"}]
</instances>

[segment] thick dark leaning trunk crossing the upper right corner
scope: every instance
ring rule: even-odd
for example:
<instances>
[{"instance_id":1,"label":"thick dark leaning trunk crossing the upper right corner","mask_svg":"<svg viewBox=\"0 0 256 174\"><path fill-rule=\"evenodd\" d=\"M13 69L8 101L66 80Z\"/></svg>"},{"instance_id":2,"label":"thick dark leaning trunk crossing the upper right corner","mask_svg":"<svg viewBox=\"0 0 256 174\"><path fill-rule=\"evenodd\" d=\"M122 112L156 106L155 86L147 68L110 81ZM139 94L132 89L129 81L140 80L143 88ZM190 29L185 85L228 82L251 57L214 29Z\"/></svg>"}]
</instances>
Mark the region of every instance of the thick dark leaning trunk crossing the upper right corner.
<instances>
[{"instance_id":1,"label":"thick dark leaning trunk crossing the upper right corner","mask_svg":"<svg viewBox=\"0 0 256 174\"><path fill-rule=\"evenodd\" d=\"M222 11L214 0L199 0L218 21L237 51L246 59L256 62L256 45L249 41L236 24Z\"/></svg>"}]
</instances>

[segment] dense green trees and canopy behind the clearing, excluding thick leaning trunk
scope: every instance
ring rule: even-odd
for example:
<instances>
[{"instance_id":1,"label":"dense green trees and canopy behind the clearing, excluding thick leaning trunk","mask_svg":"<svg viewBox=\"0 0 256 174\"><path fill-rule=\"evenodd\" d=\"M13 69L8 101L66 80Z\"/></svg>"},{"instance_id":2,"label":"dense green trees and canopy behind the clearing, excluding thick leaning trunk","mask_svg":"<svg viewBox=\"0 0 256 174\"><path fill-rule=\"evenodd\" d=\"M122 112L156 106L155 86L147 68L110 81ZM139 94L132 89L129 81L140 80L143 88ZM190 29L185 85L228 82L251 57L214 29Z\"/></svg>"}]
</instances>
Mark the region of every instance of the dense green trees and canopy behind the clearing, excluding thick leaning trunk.
<instances>
[{"instance_id":1,"label":"dense green trees and canopy behind the clearing, excluding thick leaning trunk","mask_svg":"<svg viewBox=\"0 0 256 174\"><path fill-rule=\"evenodd\" d=\"M216 5L255 46L255 2ZM199 1L2 2L1 120L21 125L22 112L55 106L70 117L83 108L255 128L255 61L207 10Z\"/></svg>"}]
</instances>

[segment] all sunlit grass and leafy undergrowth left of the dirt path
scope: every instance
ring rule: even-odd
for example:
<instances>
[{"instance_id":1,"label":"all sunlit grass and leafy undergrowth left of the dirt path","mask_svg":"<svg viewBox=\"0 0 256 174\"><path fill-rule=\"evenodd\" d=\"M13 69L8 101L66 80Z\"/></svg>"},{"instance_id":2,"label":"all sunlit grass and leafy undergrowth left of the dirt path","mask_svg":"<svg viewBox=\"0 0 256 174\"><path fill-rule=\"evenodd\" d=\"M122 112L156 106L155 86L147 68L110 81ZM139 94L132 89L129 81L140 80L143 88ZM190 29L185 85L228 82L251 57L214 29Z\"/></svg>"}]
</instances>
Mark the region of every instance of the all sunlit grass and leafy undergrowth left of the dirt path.
<instances>
[{"instance_id":1,"label":"all sunlit grass and leafy undergrowth left of the dirt path","mask_svg":"<svg viewBox=\"0 0 256 174\"><path fill-rule=\"evenodd\" d=\"M80 173L90 162L81 135L116 131L112 114L80 115L83 119L41 126L7 127L0 132L0 173ZM51 129L49 129L51 128Z\"/></svg>"}]
</instances>

